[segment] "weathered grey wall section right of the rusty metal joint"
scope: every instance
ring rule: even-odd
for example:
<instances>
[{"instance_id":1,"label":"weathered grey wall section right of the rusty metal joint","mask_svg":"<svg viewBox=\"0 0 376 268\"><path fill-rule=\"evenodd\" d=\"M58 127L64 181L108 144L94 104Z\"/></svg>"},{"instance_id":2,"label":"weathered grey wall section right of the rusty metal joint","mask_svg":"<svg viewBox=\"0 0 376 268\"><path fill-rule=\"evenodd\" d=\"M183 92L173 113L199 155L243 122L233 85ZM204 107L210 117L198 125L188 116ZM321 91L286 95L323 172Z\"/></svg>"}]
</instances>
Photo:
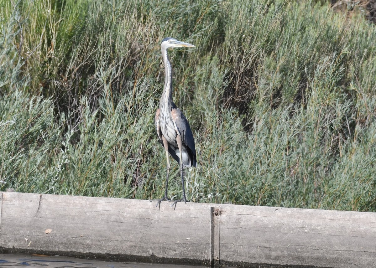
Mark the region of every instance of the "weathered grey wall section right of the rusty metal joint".
<instances>
[{"instance_id":1,"label":"weathered grey wall section right of the rusty metal joint","mask_svg":"<svg viewBox=\"0 0 376 268\"><path fill-rule=\"evenodd\" d=\"M374 267L376 213L221 205L221 264Z\"/></svg>"}]
</instances>

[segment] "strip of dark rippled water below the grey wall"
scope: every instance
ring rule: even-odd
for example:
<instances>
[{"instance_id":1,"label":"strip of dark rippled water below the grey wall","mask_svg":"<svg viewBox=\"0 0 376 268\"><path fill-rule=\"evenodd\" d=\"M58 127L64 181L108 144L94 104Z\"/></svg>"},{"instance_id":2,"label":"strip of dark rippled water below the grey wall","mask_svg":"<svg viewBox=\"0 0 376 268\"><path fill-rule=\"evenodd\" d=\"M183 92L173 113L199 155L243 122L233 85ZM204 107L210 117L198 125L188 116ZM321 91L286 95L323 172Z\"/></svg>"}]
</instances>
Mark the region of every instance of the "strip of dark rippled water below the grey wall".
<instances>
[{"instance_id":1,"label":"strip of dark rippled water below the grey wall","mask_svg":"<svg viewBox=\"0 0 376 268\"><path fill-rule=\"evenodd\" d=\"M0 254L0 267L27 268L203 268L204 266L103 262L101 260L83 260L62 256L41 256L22 254Z\"/></svg>"}]
</instances>

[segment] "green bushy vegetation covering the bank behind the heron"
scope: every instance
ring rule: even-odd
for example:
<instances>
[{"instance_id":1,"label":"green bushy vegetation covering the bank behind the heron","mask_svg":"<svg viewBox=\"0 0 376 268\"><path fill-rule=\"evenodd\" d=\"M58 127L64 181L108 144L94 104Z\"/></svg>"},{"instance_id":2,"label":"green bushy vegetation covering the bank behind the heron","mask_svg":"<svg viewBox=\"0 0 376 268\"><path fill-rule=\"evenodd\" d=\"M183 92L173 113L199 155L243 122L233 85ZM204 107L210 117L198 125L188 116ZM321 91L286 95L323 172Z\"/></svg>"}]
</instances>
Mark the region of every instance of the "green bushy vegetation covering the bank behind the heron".
<instances>
[{"instance_id":1,"label":"green bushy vegetation covering the bank behind the heron","mask_svg":"<svg viewBox=\"0 0 376 268\"><path fill-rule=\"evenodd\" d=\"M171 36L197 47L170 51L190 200L376 211L375 26L325 1L246 2L0 0L0 190L162 197Z\"/></svg>"}]
</instances>

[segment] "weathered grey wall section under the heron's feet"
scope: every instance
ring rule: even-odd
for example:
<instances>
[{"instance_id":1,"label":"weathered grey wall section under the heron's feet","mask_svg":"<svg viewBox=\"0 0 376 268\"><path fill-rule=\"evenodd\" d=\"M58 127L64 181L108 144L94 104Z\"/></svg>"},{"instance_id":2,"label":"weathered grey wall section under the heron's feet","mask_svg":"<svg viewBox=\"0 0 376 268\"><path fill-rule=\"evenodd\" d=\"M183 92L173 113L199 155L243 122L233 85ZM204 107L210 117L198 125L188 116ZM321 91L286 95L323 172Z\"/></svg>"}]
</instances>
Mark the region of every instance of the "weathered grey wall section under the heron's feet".
<instances>
[{"instance_id":1,"label":"weathered grey wall section under the heron's feet","mask_svg":"<svg viewBox=\"0 0 376 268\"><path fill-rule=\"evenodd\" d=\"M155 204L3 192L1 247L209 265L209 206L178 203L174 211L162 202L158 211Z\"/></svg>"}]
</instances>

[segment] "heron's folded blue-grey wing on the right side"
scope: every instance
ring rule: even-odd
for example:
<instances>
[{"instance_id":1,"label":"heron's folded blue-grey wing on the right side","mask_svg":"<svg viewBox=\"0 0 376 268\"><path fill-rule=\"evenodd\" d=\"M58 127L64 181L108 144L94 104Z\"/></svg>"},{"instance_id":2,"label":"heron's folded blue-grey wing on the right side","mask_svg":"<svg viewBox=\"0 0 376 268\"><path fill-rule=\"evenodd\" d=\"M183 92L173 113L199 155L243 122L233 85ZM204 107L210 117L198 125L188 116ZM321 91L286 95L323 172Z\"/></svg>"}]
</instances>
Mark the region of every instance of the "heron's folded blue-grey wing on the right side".
<instances>
[{"instance_id":1,"label":"heron's folded blue-grey wing on the right side","mask_svg":"<svg viewBox=\"0 0 376 268\"><path fill-rule=\"evenodd\" d=\"M172 109L171 117L174 121L178 134L182 138L183 144L185 145L188 155L190 156L191 164L193 167L196 167L196 147L194 146L194 139L188 120L185 118L185 116L179 108Z\"/></svg>"}]
</instances>

